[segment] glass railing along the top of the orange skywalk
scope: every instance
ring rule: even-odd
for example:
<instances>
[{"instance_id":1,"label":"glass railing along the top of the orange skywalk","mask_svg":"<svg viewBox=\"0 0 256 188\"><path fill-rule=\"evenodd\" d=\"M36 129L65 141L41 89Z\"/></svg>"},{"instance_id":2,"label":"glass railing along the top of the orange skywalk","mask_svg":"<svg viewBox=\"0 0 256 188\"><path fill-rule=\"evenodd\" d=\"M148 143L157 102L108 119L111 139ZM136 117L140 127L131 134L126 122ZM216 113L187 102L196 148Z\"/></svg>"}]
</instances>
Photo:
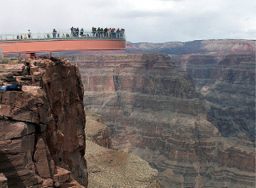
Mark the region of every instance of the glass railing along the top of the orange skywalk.
<instances>
[{"instance_id":1,"label":"glass railing along the top of the orange skywalk","mask_svg":"<svg viewBox=\"0 0 256 188\"><path fill-rule=\"evenodd\" d=\"M50 32L50 33L23 33L23 34L0 34L0 42L33 41L33 40L70 40L70 39L120 39L126 40L124 32Z\"/></svg>"}]
</instances>

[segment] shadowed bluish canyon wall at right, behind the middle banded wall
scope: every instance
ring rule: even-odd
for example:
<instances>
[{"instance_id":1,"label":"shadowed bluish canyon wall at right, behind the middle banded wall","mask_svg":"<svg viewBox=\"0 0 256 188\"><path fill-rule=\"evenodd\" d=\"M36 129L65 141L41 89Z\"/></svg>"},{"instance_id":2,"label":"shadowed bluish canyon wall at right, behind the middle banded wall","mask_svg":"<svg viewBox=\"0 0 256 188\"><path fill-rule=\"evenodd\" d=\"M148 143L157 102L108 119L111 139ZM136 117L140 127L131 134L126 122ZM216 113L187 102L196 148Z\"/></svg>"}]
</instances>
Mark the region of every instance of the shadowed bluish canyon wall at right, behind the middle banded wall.
<instances>
[{"instance_id":1,"label":"shadowed bluish canyon wall at right, behind the middle banded wall","mask_svg":"<svg viewBox=\"0 0 256 188\"><path fill-rule=\"evenodd\" d=\"M209 120L223 136L255 142L255 54L172 56L194 79L209 105Z\"/></svg>"}]
</instances>

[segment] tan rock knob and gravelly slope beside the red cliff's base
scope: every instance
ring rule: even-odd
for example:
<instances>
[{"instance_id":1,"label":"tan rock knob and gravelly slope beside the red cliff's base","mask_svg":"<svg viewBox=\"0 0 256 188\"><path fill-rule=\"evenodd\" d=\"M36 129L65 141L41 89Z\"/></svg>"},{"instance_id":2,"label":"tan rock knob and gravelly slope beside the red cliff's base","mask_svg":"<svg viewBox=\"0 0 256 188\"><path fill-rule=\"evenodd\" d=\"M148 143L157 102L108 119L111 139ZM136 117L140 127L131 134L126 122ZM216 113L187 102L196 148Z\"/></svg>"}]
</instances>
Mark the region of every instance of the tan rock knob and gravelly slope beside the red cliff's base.
<instances>
[{"instance_id":1,"label":"tan rock knob and gravelly slope beside the red cliff's base","mask_svg":"<svg viewBox=\"0 0 256 188\"><path fill-rule=\"evenodd\" d=\"M88 187L160 187L158 170L134 154L110 149L109 132L101 116L86 112Z\"/></svg>"}]
</instances>

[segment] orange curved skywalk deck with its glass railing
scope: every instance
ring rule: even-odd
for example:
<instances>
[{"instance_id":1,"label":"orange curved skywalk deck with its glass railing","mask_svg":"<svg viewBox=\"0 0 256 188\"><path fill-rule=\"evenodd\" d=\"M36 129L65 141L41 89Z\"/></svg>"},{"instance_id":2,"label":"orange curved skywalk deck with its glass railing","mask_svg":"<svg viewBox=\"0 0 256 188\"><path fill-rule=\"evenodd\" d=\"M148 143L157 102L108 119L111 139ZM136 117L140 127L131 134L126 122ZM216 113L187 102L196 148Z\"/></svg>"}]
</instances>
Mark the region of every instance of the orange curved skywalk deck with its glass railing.
<instances>
[{"instance_id":1,"label":"orange curved skywalk deck with its glass railing","mask_svg":"<svg viewBox=\"0 0 256 188\"><path fill-rule=\"evenodd\" d=\"M0 37L0 50L3 54L124 49L126 49L125 34L117 33L84 32L83 37L73 37L70 32L61 32L55 36L44 33L30 34L30 38L27 34L6 34Z\"/></svg>"}]
</instances>

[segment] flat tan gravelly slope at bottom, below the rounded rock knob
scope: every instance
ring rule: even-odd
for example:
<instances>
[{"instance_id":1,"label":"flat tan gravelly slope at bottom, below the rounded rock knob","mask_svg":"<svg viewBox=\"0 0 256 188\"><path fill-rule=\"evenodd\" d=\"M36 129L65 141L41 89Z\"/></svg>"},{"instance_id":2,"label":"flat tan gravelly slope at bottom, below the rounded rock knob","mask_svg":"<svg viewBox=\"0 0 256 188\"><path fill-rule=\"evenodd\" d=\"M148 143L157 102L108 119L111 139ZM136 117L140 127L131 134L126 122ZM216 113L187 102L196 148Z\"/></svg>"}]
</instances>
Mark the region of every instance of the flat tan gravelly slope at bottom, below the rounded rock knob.
<instances>
[{"instance_id":1,"label":"flat tan gravelly slope at bottom, below the rounded rock knob","mask_svg":"<svg viewBox=\"0 0 256 188\"><path fill-rule=\"evenodd\" d=\"M158 171L138 156L86 141L88 187L160 187Z\"/></svg>"}]
</instances>

